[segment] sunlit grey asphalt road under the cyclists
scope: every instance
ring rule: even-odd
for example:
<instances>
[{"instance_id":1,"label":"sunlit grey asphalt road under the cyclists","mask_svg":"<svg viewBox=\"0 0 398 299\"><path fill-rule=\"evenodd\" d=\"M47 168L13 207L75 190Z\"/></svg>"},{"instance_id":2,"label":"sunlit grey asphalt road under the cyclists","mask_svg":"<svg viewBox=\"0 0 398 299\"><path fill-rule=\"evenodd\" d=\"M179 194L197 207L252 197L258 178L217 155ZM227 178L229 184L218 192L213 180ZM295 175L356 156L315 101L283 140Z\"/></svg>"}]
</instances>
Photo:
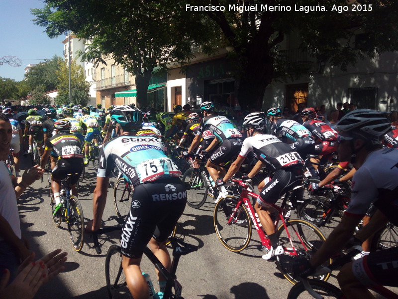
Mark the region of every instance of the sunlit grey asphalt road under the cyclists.
<instances>
[{"instance_id":1,"label":"sunlit grey asphalt road under the cyclists","mask_svg":"<svg viewBox=\"0 0 398 299\"><path fill-rule=\"evenodd\" d=\"M26 162L22 166L26 166ZM88 175L79 188L79 199L83 206L85 221L93 217L92 198L96 185L94 169L88 168ZM108 189L108 202L105 207L104 225L114 225L113 189ZM104 275L105 254L108 247L118 243L118 233L102 236L102 254L97 255L93 243L87 236L81 252L75 252L66 225L55 227L51 217L49 186L46 180L36 181L28 187L19 199L21 227L37 256L61 248L68 252L66 270L57 278L43 286L36 299L106 299ZM284 299L292 285L283 278L274 262L261 258L258 236L247 249L233 253L222 246L213 227L214 204L211 198L197 210L187 205L181 217L177 235L184 236L186 242L199 246L197 252L183 256L177 270L177 278L183 286L182 295L186 299ZM142 270L155 273L152 265L144 257ZM334 279L329 280L333 282ZM155 291L157 283L154 283Z\"/></svg>"}]
</instances>

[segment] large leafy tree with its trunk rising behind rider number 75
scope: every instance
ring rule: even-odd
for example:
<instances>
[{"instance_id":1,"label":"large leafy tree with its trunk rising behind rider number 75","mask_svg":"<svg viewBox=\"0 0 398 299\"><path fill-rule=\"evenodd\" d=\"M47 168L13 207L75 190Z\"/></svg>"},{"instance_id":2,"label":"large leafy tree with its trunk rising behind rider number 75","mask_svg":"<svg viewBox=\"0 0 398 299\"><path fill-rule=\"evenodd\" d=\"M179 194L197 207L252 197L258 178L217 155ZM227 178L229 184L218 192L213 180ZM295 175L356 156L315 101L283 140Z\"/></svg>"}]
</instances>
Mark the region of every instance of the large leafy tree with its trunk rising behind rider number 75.
<instances>
[{"instance_id":1,"label":"large leafy tree with its trunk rising behind rider number 75","mask_svg":"<svg viewBox=\"0 0 398 299\"><path fill-rule=\"evenodd\" d=\"M32 9L35 23L45 27L50 37L71 30L77 37L91 40L84 60L105 63L104 57L110 56L135 74L138 106L146 104L155 67L167 69L170 63L187 63L192 58L191 39L187 38L190 28L174 1L46 2L43 9ZM206 28L199 23L193 32L202 31L203 35ZM201 40L199 35L196 39Z\"/></svg>"}]
</instances>

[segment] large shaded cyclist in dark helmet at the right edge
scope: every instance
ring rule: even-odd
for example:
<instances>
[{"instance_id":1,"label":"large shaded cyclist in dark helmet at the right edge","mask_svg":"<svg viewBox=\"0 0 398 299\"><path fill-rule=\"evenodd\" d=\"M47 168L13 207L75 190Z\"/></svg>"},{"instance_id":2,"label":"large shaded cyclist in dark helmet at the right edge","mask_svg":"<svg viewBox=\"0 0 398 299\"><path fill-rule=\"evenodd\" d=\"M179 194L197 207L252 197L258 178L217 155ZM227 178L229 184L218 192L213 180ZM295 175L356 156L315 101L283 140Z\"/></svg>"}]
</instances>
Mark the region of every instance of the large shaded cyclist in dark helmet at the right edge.
<instances>
[{"instance_id":1,"label":"large shaded cyclist in dark helmet at the right edge","mask_svg":"<svg viewBox=\"0 0 398 299\"><path fill-rule=\"evenodd\" d=\"M351 160L357 172L352 179L351 201L341 222L331 232L320 249L309 261L299 260L294 265L298 275L308 276L327 258L340 252L370 205L378 208L368 225L353 239L361 244L387 221L398 225L398 149L383 149L382 139L391 130L388 113L357 109L346 114L336 125L339 131L338 155ZM373 298L366 285L398 286L396 267L398 248L371 252L369 255L344 265L337 276L347 298Z\"/></svg>"}]
</instances>

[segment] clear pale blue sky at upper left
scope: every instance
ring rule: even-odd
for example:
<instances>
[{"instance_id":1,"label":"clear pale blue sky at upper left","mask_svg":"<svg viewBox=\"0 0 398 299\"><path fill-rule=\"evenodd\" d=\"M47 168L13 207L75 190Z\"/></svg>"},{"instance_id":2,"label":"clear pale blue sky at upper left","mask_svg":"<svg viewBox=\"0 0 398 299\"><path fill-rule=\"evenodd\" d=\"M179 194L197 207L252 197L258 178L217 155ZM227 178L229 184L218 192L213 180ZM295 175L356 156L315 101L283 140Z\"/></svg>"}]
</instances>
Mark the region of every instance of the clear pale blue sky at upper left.
<instances>
[{"instance_id":1,"label":"clear pale blue sky at upper left","mask_svg":"<svg viewBox=\"0 0 398 299\"><path fill-rule=\"evenodd\" d=\"M41 0L0 0L0 59L16 56L22 63L19 67L0 65L0 77L21 81L24 68L51 59L54 54L63 56L62 41L66 35L49 38L44 27L35 25L30 8L43 8ZM0 60L1 61L1 60Z\"/></svg>"}]
</instances>

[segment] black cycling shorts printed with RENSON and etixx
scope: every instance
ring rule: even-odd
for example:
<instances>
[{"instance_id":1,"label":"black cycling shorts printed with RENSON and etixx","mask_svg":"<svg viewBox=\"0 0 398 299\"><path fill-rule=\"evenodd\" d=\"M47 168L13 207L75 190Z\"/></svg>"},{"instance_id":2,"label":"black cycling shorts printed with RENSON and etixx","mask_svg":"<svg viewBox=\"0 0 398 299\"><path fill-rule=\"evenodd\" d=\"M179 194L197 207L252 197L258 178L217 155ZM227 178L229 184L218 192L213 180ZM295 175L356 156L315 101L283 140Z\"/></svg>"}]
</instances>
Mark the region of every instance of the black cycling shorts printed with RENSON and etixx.
<instances>
[{"instance_id":1,"label":"black cycling shorts printed with RENSON and etixx","mask_svg":"<svg viewBox=\"0 0 398 299\"><path fill-rule=\"evenodd\" d=\"M120 237L121 253L140 258L153 237L167 240L187 202L187 190L177 177L156 180L134 187L130 212Z\"/></svg>"}]
</instances>

